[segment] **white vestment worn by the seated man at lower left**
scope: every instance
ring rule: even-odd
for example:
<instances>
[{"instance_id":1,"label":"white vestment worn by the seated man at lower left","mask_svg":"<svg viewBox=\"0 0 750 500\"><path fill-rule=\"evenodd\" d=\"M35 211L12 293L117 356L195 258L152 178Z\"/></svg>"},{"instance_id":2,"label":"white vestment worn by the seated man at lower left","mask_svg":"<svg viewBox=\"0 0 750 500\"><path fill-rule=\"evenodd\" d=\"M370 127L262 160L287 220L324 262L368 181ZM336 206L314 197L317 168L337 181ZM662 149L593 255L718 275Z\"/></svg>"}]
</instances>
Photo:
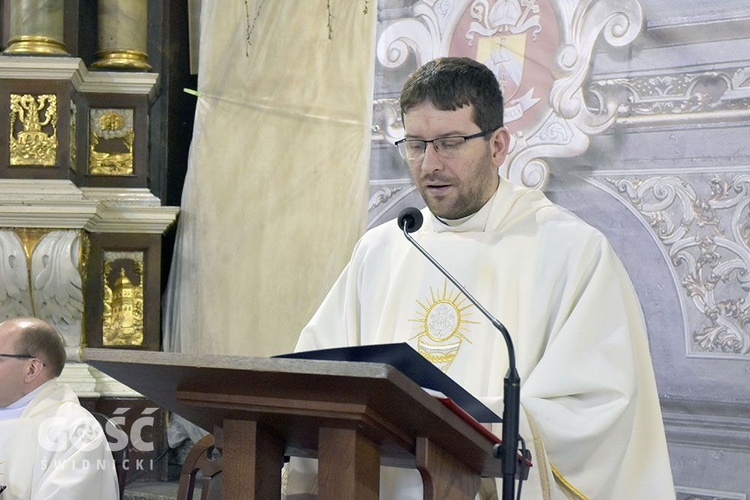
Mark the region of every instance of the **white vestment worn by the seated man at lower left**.
<instances>
[{"instance_id":1,"label":"white vestment worn by the seated man at lower left","mask_svg":"<svg viewBox=\"0 0 750 500\"><path fill-rule=\"evenodd\" d=\"M0 422L3 500L119 498L99 422L70 387L48 382L20 418Z\"/></svg>"}]
</instances>

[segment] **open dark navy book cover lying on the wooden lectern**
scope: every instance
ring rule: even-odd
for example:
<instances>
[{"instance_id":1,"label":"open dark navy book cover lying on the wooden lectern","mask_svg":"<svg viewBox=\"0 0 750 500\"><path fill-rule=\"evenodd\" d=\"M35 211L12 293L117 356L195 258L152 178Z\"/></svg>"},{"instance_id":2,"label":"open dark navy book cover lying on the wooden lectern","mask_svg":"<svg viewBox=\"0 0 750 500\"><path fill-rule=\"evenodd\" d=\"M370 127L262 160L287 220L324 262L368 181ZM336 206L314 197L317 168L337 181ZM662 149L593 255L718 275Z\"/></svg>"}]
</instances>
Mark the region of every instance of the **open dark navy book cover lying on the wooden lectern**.
<instances>
[{"instance_id":1,"label":"open dark navy book cover lying on the wooden lectern","mask_svg":"<svg viewBox=\"0 0 750 500\"><path fill-rule=\"evenodd\" d=\"M320 361L354 361L391 365L425 389L443 393L478 422L501 422L492 410L430 363L409 344L373 344L355 347L320 349L274 356L275 358L312 359Z\"/></svg>"}]
</instances>

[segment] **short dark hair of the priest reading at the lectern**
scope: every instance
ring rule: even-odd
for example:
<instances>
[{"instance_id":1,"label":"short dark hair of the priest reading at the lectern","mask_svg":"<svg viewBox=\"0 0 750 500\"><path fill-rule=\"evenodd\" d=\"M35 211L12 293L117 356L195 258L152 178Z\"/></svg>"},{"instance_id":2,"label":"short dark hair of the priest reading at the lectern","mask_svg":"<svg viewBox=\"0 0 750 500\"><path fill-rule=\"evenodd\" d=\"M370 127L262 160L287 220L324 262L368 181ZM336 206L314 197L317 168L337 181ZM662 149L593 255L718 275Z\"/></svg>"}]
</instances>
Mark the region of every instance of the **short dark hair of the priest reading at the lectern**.
<instances>
[{"instance_id":1,"label":"short dark hair of the priest reading at the lectern","mask_svg":"<svg viewBox=\"0 0 750 500\"><path fill-rule=\"evenodd\" d=\"M412 73L401 90L401 118L423 102L443 111L471 104L474 122L482 131L503 126L500 83L492 70L468 57L434 59Z\"/></svg>"}]
</instances>

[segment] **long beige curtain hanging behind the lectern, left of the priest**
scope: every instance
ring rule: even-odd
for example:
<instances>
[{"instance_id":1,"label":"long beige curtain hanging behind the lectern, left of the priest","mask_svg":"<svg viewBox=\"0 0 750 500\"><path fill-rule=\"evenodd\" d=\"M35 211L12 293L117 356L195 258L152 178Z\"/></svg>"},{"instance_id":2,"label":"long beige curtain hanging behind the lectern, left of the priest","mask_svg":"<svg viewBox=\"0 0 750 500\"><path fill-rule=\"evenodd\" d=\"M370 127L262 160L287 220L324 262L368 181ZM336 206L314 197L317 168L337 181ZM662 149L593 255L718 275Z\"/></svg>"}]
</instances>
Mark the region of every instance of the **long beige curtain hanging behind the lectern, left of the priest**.
<instances>
[{"instance_id":1,"label":"long beige curtain hanging behind the lectern, left of the priest","mask_svg":"<svg viewBox=\"0 0 750 500\"><path fill-rule=\"evenodd\" d=\"M166 350L291 351L345 265L366 218L374 3L202 2Z\"/></svg>"}]
</instances>

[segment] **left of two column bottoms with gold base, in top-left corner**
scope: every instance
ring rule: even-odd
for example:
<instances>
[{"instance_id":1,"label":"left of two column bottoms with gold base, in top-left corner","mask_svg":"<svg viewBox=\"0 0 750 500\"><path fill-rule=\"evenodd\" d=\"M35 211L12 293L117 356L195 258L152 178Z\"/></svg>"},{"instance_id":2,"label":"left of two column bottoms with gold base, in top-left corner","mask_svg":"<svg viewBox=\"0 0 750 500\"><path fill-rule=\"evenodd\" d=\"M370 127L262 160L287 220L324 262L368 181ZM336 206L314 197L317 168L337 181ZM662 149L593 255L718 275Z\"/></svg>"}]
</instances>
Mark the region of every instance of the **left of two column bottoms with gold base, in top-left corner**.
<instances>
[{"instance_id":1,"label":"left of two column bottoms with gold base, in top-left corner","mask_svg":"<svg viewBox=\"0 0 750 500\"><path fill-rule=\"evenodd\" d=\"M67 55L63 43L64 0L13 0L10 39L4 54Z\"/></svg>"}]
</instances>

